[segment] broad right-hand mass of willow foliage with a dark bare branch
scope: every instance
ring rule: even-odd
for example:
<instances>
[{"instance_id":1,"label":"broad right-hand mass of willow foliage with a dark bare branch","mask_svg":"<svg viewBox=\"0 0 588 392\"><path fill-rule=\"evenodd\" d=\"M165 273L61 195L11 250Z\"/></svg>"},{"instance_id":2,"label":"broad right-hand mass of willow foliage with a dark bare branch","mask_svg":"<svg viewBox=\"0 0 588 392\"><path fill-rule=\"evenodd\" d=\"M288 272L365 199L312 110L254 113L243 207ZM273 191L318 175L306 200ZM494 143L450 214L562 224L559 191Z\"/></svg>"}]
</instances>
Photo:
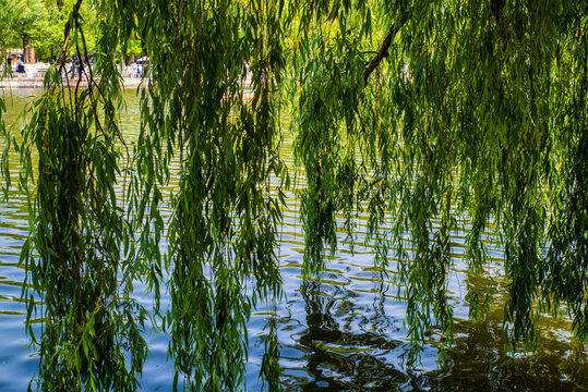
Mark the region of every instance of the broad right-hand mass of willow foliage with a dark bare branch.
<instances>
[{"instance_id":1,"label":"broad right-hand mass of willow foliage with a dark bare branch","mask_svg":"<svg viewBox=\"0 0 588 392\"><path fill-rule=\"evenodd\" d=\"M380 32L386 36L365 61L372 14L386 23ZM307 265L320 269L316 250L335 245L336 200L353 199L337 195L336 168L352 156L349 146L361 146L358 170L347 171L361 197L343 210L368 203L376 249L396 249L415 348L434 324L451 338L444 287L457 218L471 222L472 273L483 272L481 235L495 231L506 244L512 343L535 343L540 299L554 311L566 301L584 335L586 200L574 189L585 167L586 14L586 2L559 1L300 8L301 29L313 32L295 53L296 151L309 176ZM551 195L559 195L555 204ZM384 216L393 217L387 238L372 229L385 228ZM483 304L473 299L476 314Z\"/></svg>"}]
</instances>

